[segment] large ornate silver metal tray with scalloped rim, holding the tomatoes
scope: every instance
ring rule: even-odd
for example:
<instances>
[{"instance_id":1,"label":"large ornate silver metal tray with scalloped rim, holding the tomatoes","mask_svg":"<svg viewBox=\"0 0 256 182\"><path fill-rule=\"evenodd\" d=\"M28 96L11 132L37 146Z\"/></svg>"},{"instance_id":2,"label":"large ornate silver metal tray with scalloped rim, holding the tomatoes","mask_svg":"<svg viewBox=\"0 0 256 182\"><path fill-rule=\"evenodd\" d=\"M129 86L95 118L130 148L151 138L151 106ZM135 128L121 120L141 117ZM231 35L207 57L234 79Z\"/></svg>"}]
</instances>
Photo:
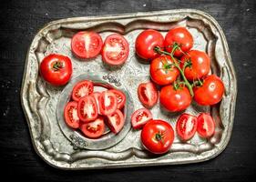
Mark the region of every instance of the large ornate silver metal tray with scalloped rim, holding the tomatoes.
<instances>
[{"instance_id":1,"label":"large ornate silver metal tray with scalloped rim, holding the tomatoes","mask_svg":"<svg viewBox=\"0 0 256 182\"><path fill-rule=\"evenodd\" d=\"M135 38L143 29L157 29L165 35L170 28L177 25L189 29L195 42L193 49L208 53L211 59L211 73L220 76L224 82L225 95L219 105L202 107L192 103L185 111L193 115L209 111L216 121L215 135L208 140L196 135L186 143L179 141L176 136L169 152L162 156L150 155L141 146L140 131L133 129L130 129L127 136L117 145L103 150L81 148L79 139L71 143L70 138L61 131L56 119L57 103L64 87L50 86L38 75L38 66L42 59L50 53L69 56L74 69L71 82L79 75L94 74L118 88L127 87L134 103L133 110L136 110L142 107L138 102L138 84L147 81L149 76L148 65L143 64L135 54ZM93 60L78 60L70 51L70 38L80 30L97 31L103 40L113 32L124 35L130 46L127 63L124 66L109 67L102 64L100 56ZM21 100L37 154L54 167L83 169L184 164L216 157L230 140L236 94L236 76L220 25L204 12L181 9L75 17L49 23L36 34L28 50ZM153 117L166 120L171 126L175 126L180 113L171 114L159 108L158 104L151 109ZM127 116L129 117L129 114Z\"/></svg>"}]
</instances>

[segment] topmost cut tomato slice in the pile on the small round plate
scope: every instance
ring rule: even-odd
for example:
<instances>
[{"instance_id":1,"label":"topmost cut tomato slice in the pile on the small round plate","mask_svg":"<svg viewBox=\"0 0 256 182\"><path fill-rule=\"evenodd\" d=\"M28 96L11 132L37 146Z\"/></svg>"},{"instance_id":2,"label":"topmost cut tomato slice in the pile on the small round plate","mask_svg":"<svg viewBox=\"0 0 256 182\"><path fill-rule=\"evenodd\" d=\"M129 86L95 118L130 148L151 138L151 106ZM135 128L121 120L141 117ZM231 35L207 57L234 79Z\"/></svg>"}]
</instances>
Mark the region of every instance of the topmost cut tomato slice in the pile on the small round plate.
<instances>
[{"instance_id":1,"label":"topmost cut tomato slice in the pile on the small round plate","mask_svg":"<svg viewBox=\"0 0 256 182\"><path fill-rule=\"evenodd\" d=\"M90 80L83 80L74 86L72 91L72 99L78 101L83 96L89 96L93 93L93 83Z\"/></svg>"}]
</instances>

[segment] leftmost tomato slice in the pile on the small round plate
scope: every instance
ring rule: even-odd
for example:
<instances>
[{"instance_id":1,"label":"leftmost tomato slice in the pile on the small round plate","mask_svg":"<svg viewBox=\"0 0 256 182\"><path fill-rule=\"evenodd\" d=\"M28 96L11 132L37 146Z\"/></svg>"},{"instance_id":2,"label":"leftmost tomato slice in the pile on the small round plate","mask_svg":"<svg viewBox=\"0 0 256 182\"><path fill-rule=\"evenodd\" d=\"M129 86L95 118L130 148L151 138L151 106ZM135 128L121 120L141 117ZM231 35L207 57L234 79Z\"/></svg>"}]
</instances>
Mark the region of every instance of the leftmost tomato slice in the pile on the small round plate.
<instances>
[{"instance_id":1,"label":"leftmost tomato slice in the pile on the small round plate","mask_svg":"<svg viewBox=\"0 0 256 182\"><path fill-rule=\"evenodd\" d=\"M67 126L72 128L79 127L79 117L77 116L77 102L69 102L65 106L64 118Z\"/></svg>"}]
</instances>

